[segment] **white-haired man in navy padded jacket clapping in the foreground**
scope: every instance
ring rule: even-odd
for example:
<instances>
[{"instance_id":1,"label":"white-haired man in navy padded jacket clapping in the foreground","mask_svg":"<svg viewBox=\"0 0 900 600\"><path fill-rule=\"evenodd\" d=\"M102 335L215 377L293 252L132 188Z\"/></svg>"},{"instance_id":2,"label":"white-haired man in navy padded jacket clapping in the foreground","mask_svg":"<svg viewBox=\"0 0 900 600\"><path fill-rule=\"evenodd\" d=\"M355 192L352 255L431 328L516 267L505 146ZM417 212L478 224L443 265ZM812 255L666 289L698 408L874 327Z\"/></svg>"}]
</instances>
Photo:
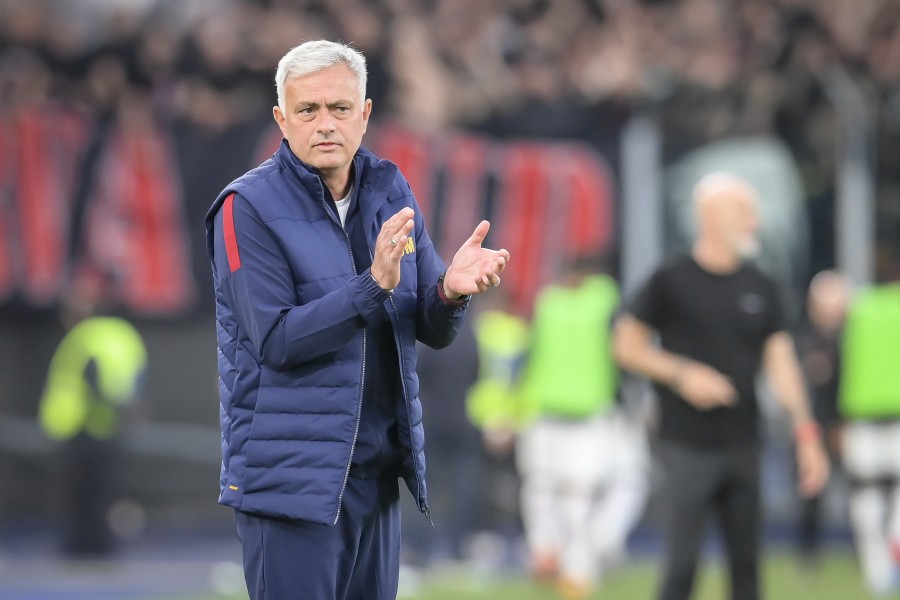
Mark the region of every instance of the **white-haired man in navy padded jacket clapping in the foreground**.
<instances>
[{"instance_id":1,"label":"white-haired man in navy padded jacket clapping in the foreground","mask_svg":"<svg viewBox=\"0 0 900 600\"><path fill-rule=\"evenodd\" d=\"M281 147L206 221L219 502L252 598L394 598L398 476L428 514L415 342L449 344L509 253L481 247L482 221L445 270L406 180L360 146L359 52L307 42L275 79Z\"/></svg>"}]
</instances>

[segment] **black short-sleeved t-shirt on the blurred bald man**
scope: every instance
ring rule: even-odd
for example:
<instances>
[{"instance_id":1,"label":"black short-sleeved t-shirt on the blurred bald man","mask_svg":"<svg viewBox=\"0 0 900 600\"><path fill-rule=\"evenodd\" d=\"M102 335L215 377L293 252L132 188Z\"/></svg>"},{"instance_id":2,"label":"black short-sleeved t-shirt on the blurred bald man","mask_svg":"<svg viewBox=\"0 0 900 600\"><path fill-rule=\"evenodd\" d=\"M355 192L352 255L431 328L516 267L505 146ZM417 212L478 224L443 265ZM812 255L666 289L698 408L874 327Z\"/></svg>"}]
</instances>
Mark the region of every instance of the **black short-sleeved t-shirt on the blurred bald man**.
<instances>
[{"instance_id":1,"label":"black short-sleeved t-shirt on the blurred bald man","mask_svg":"<svg viewBox=\"0 0 900 600\"><path fill-rule=\"evenodd\" d=\"M701 411L657 385L661 438L704 446L759 440L755 381L763 346L786 329L771 280L749 264L710 273L685 256L660 267L628 312L659 333L664 349L710 365L738 392L735 404Z\"/></svg>"}]
</instances>

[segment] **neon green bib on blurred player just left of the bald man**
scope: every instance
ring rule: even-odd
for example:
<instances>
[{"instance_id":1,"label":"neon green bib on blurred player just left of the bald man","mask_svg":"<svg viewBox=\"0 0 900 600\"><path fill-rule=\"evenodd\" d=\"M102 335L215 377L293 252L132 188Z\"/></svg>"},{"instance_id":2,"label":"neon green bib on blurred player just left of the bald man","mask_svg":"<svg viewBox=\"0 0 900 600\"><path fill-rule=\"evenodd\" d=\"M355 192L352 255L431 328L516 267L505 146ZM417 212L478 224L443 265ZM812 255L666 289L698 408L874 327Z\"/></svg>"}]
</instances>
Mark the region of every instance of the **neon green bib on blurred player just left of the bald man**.
<instances>
[{"instance_id":1,"label":"neon green bib on blurred player just left of the bald man","mask_svg":"<svg viewBox=\"0 0 900 600\"><path fill-rule=\"evenodd\" d=\"M612 406L618 370L611 326L618 303L618 286L601 275L577 288L549 286L538 295L522 382L532 412L577 419Z\"/></svg>"}]
</instances>

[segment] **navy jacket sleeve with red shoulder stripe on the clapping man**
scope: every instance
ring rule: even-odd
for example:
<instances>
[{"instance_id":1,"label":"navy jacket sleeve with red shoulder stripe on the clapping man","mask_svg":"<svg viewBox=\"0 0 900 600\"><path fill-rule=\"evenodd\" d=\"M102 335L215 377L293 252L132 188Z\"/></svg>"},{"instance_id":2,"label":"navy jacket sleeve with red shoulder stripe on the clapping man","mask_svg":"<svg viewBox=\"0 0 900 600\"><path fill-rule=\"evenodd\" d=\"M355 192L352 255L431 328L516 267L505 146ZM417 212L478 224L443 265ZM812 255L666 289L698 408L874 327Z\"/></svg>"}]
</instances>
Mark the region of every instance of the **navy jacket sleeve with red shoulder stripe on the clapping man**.
<instances>
[{"instance_id":1,"label":"navy jacket sleeve with red shoulder stripe on the clapping man","mask_svg":"<svg viewBox=\"0 0 900 600\"><path fill-rule=\"evenodd\" d=\"M281 245L246 199L233 195L215 217L214 268L220 302L232 311L269 368L285 370L339 349L365 328L388 293L369 270L298 305Z\"/></svg>"}]
</instances>

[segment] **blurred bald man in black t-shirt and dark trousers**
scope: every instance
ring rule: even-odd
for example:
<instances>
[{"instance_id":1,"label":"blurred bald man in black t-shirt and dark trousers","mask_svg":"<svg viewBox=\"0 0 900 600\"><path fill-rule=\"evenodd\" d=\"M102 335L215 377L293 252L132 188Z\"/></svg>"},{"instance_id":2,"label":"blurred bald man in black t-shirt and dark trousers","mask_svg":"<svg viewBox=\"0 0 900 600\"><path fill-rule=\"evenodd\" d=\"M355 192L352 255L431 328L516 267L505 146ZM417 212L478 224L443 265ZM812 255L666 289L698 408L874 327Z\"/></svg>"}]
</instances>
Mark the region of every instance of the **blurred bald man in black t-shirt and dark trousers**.
<instances>
[{"instance_id":1,"label":"blurred bald man in black t-shirt and dark trousers","mask_svg":"<svg viewBox=\"0 0 900 600\"><path fill-rule=\"evenodd\" d=\"M796 434L800 491L828 476L818 425L775 285L755 255L753 189L730 174L694 190L689 256L658 269L616 324L619 364L650 378L660 399L667 550L659 598L689 598L709 511L727 550L732 598L759 598L760 434L754 380L762 368ZM659 335L659 345L653 334Z\"/></svg>"}]
</instances>

